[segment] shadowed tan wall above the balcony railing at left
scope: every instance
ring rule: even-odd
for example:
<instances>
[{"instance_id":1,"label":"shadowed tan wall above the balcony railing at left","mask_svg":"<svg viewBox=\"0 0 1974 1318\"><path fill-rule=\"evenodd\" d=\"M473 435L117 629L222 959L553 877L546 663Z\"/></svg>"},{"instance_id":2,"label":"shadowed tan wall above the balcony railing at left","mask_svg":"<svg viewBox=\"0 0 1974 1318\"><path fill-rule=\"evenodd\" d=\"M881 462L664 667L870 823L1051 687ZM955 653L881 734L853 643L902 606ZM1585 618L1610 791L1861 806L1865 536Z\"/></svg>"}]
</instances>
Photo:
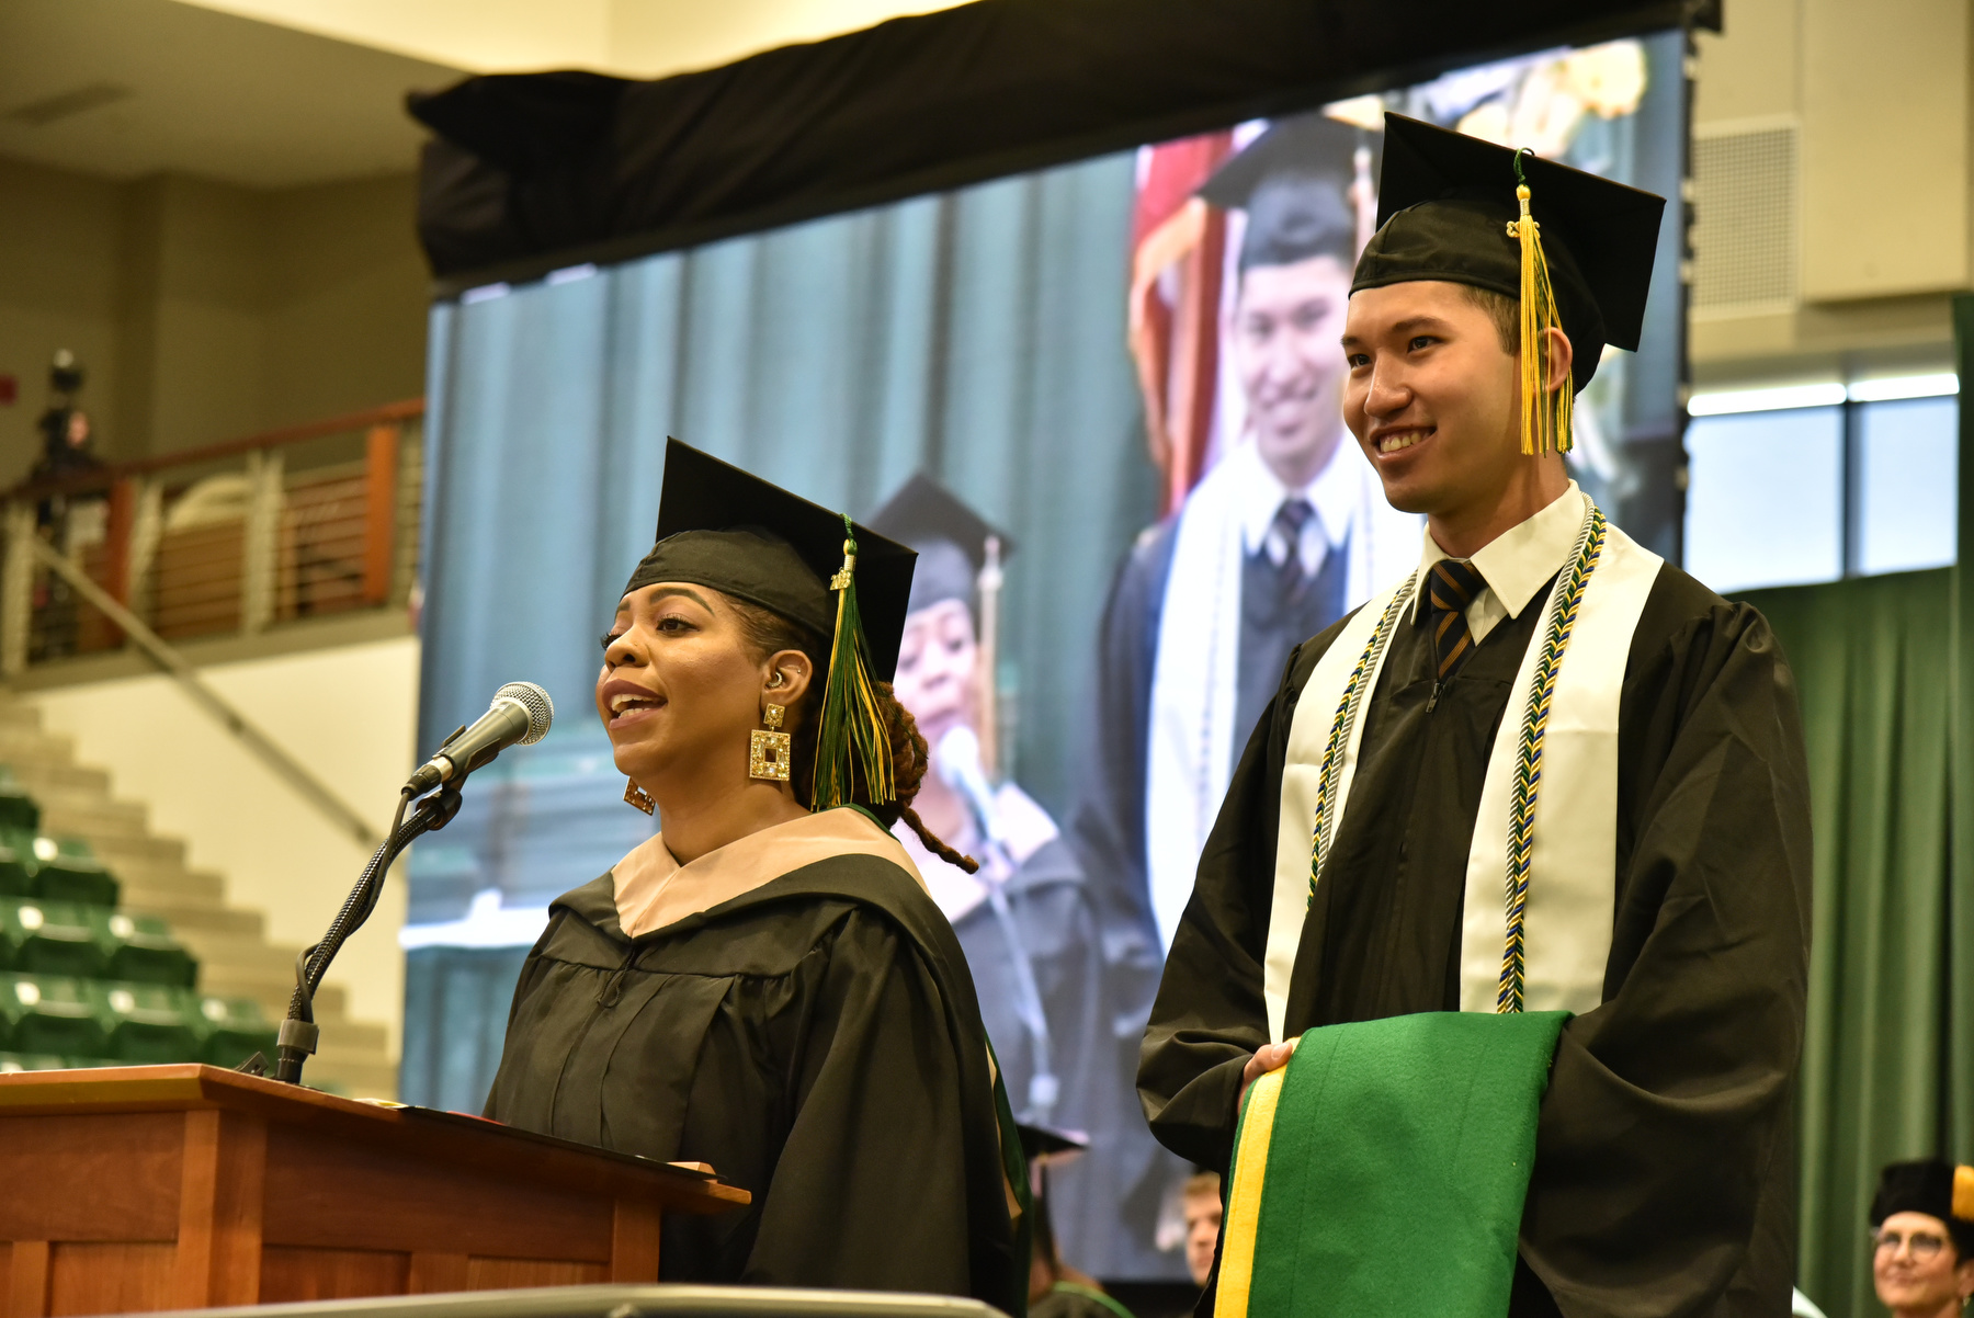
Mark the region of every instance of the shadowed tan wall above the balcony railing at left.
<instances>
[{"instance_id":1,"label":"shadowed tan wall above the balcony railing at left","mask_svg":"<svg viewBox=\"0 0 1974 1318\"><path fill-rule=\"evenodd\" d=\"M134 458L413 399L428 278L409 174L290 189L111 183L0 160L0 481L34 462L47 361L89 369Z\"/></svg>"}]
</instances>

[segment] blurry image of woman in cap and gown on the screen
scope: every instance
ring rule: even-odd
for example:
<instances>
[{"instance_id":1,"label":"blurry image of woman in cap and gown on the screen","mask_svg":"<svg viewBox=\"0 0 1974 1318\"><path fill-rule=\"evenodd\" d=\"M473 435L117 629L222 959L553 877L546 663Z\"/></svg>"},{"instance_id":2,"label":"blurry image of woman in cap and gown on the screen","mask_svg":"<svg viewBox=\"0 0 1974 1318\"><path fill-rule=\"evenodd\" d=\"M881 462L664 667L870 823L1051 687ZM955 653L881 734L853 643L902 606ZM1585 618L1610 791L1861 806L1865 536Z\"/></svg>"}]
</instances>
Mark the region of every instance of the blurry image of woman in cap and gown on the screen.
<instances>
[{"instance_id":1,"label":"blurry image of woman in cap and gown on the screen","mask_svg":"<svg viewBox=\"0 0 1974 1318\"><path fill-rule=\"evenodd\" d=\"M924 474L873 513L871 527L918 552L894 681L932 748L912 805L979 870L932 854L902 823L892 833L965 949L1017 1117L1084 1133L1088 1156L1056 1184L1056 1229L1080 1261L1131 1275L1141 1261L1119 1253L1121 1206L1159 1146L1133 1085L1137 1026L1119 1032L1117 1020L1121 1004L1143 1010L1157 971L1143 955L1109 955L1137 943L1105 937L1084 866L1054 819L1013 779L991 781L981 732L995 677L983 641L997 604L983 576L999 572L1015 543ZM989 588L997 594L999 580Z\"/></svg>"}]
</instances>

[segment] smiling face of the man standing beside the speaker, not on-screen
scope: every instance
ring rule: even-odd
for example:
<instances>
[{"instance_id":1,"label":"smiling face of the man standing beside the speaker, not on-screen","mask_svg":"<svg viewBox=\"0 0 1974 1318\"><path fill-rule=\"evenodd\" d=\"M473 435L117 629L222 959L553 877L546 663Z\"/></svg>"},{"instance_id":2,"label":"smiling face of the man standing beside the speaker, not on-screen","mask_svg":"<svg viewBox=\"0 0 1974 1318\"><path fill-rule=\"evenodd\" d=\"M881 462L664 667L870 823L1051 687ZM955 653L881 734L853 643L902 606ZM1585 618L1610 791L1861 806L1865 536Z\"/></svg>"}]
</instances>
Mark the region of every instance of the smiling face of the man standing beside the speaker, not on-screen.
<instances>
[{"instance_id":1,"label":"smiling face of the man standing beside the speaker, not on-screen","mask_svg":"<svg viewBox=\"0 0 1974 1318\"><path fill-rule=\"evenodd\" d=\"M1463 284L1411 280L1350 296L1344 424L1405 513L1498 499L1522 460L1516 359Z\"/></svg>"}]
</instances>

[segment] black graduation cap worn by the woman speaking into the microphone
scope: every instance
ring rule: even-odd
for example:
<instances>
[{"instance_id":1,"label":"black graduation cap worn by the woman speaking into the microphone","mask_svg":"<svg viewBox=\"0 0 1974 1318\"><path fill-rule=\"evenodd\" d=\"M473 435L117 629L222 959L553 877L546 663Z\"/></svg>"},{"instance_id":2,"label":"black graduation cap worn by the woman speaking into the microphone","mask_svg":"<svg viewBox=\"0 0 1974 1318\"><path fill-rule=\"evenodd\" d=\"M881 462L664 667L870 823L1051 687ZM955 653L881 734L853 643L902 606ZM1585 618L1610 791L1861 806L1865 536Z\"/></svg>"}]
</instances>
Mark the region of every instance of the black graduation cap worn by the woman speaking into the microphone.
<instances>
[{"instance_id":1,"label":"black graduation cap worn by the woman speaking into the microphone","mask_svg":"<svg viewBox=\"0 0 1974 1318\"><path fill-rule=\"evenodd\" d=\"M665 442L665 487L657 545L624 592L655 582L691 582L758 604L829 641L837 598L829 578L843 566L843 517L770 485L679 440ZM857 525L857 600L871 675L898 669L914 554Z\"/></svg>"}]
</instances>

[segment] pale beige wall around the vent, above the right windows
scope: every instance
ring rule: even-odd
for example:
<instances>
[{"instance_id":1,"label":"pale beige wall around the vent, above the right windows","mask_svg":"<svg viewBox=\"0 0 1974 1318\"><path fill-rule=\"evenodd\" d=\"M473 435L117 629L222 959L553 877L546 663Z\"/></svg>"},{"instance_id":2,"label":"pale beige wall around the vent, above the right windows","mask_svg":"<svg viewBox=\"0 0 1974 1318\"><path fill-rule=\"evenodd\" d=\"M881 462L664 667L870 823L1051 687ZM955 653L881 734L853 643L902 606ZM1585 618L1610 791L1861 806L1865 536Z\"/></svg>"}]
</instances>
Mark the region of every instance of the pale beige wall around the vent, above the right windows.
<instances>
[{"instance_id":1,"label":"pale beige wall around the vent, above the right windows","mask_svg":"<svg viewBox=\"0 0 1974 1318\"><path fill-rule=\"evenodd\" d=\"M1694 126L1798 126L1794 312L1696 318L1702 387L1942 365L1974 274L1968 0L1727 0Z\"/></svg>"}]
</instances>

